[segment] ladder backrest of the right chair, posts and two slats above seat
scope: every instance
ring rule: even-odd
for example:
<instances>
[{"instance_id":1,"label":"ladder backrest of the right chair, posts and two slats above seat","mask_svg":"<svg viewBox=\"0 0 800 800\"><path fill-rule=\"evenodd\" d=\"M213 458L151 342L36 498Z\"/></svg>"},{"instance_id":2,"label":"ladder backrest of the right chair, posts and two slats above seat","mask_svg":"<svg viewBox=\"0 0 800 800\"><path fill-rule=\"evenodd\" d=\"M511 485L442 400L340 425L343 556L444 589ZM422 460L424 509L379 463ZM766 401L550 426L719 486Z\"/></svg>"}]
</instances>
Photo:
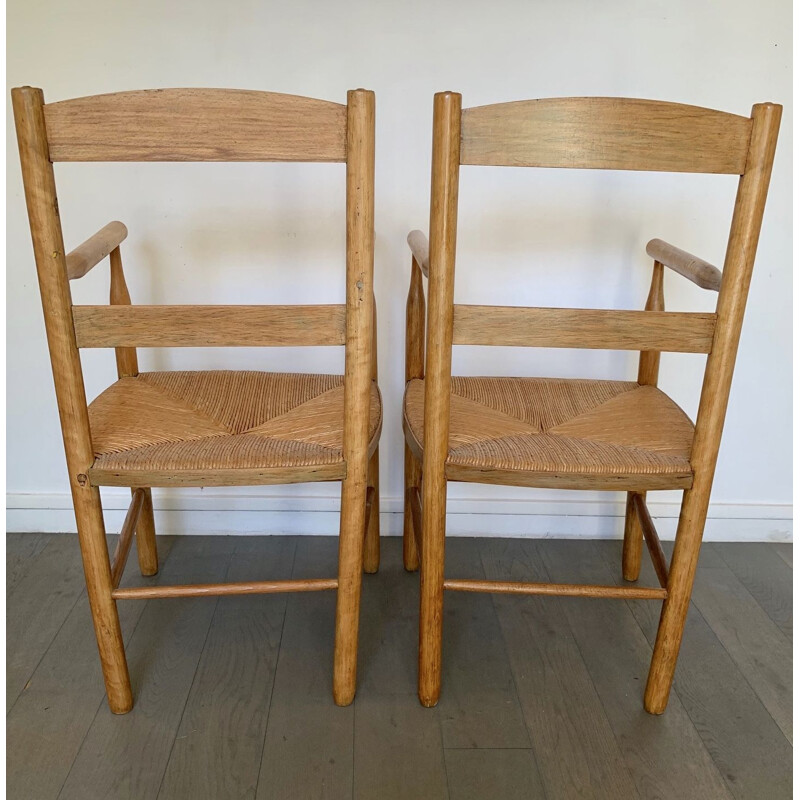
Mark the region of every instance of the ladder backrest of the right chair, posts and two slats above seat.
<instances>
[{"instance_id":1,"label":"ladder backrest of the right chair, posts and two slats above seat","mask_svg":"<svg viewBox=\"0 0 800 800\"><path fill-rule=\"evenodd\" d=\"M750 117L741 117L675 103L586 97L462 111L461 95L437 94L425 362L426 458L443 461L446 455L453 344L697 352L708 354L708 359L692 463L695 483L710 481L781 110L779 105L763 103L753 106ZM738 174L715 313L454 305L462 164ZM442 421L445 430L435 431ZM441 446L432 449L434 442Z\"/></svg>"}]
</instances>

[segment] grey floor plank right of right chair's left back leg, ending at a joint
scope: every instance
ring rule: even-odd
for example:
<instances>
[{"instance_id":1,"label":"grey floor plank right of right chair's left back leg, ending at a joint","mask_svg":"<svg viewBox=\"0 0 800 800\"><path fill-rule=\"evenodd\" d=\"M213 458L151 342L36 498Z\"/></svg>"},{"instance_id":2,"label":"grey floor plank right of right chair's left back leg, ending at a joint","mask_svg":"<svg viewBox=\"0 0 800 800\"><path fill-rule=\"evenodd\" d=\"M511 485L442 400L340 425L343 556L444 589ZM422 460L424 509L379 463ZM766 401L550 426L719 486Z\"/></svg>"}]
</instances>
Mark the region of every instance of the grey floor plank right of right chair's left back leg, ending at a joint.
<instances>
[{"instance_id":1,"label":"grey floor plank right of right chair's left back leg, ending at a joint","mask_svg":"<svg viewBox=\"0 0 800 800\"><path fill-rule=\"evenodd\" d=\"M447 577L485 578L478 539L450 539L445 562ZM442 638L444 747L530 748L491 596L445 593Z\"/></svg>"}]
</instances>

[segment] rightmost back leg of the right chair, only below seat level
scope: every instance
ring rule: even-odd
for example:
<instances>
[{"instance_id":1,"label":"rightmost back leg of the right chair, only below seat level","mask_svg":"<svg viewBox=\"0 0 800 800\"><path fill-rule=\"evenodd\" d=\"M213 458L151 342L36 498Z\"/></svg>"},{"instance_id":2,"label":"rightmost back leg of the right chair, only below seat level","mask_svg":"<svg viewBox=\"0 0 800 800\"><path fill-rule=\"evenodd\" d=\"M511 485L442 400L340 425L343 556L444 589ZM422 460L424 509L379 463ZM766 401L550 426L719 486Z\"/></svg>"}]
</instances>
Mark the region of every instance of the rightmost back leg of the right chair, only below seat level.
<instances>
[{"instance_id":1,"label":"rightmost back leg of the right chair, only below seat level","mask_svg":"<svg viewBox=\"0 0 800 800\"><path fill-rule=\"evenodd\" d=\"M675 549L667 581L667 599L661 610L644 707L651 714L662 714L669 701L675 665L683 638L686 615L692 597L697 559L703 541L709 492L687 489L683 493Z\"/></svg>"}]
</instances>

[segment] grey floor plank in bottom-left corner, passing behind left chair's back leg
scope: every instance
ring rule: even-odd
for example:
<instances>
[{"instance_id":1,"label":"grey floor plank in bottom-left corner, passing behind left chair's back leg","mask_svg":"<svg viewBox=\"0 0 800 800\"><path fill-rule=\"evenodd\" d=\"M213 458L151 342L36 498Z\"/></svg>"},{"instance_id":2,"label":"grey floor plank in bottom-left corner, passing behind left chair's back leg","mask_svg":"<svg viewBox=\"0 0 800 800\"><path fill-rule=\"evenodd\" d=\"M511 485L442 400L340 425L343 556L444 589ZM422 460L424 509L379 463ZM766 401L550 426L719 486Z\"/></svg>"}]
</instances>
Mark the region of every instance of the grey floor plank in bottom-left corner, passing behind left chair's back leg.
<instances>
[{"instance_id":1,"label":"grey floor plank in bottom-left corner, passing behind left chair's back leg","mask_svg":"<svg viewBox=\"0 0 800 800\"><path fill-rule=\"evenodd\" d=\"M109 549L113 550L116 539L109 537ZM171 544L171 537L158 539L162 566ZM145 586L161 580L160 575L143 578L136 557L128 560L123 575L126 585ZM126 644L144 607L141 602L119 605ZM97 642L84 591L6 720L9 797L57 797L97 709L105 702Z\"/></svg>"}]
</instances>

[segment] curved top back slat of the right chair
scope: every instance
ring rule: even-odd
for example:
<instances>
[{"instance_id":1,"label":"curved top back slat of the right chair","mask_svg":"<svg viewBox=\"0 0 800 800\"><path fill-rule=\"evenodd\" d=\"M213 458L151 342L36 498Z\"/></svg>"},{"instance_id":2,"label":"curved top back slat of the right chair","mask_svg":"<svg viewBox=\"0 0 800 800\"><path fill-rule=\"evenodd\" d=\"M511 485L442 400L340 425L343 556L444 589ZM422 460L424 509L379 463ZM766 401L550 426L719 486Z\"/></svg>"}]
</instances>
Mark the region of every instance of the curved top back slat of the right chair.
<instances>
[{"instance_id":1,"label":"curved top back slat of the right chair","mask_svg":"<svg viewBox=\"0 0 800 800\"><path fill-rule=\"evenodd\" d=\"M467 108L461 163L741 174L751 120L655 100L566 97Z\"/></svg>"}]
</instances>

